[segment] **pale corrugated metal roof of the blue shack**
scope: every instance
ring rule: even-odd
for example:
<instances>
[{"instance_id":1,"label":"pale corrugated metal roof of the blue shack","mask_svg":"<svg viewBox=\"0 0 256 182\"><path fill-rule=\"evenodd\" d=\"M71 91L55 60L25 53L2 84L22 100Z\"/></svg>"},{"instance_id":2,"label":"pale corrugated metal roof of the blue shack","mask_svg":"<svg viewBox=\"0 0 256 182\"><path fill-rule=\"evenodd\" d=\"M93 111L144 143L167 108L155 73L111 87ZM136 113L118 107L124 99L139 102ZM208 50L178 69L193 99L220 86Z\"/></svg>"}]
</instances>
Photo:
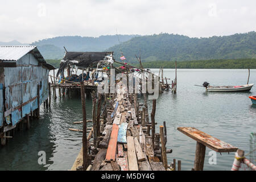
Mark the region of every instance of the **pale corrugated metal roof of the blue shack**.
<instances>
[{"instance_id":1,"label":"pale corrugated metal roof of the blue shack","mask_svg":"<svg viewBox=\"0 0 256 182\"><path fill-rule=\"evenodd\" d=\"M16 61L36 46L0 46L0 60Z\"/></svg>"}]
</instances>

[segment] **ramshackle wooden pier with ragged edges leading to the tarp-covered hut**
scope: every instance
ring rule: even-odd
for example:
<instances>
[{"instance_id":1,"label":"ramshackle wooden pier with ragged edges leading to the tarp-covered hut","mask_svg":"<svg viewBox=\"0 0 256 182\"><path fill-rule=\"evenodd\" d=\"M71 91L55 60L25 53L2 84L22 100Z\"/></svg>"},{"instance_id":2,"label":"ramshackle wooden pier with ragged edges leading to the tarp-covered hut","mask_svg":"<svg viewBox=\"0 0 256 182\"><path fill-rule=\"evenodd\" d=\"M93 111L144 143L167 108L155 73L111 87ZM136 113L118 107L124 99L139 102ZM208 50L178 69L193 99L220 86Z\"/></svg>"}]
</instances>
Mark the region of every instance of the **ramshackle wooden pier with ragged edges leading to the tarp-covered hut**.
<instances>
[{"instance_id":1,"label":"ramshackle wooden pier with ragged edges leading to the tarp-covered hut","mask_svg":"<svg viewBox=\"0 0 256 182\"><path fill-rule=\"evenodd\" d=\"M99 122L96 117L95 126L87 136L89 142L87 158L89 160L86 159L86 164L83 162L81 150L71 170L171 170L167 165L166 157L167 152L171 153L171 150L166 150L166 129L164 126L160 126L160 134L154 134L155 121L154 119L151 123L143 121L146 120L145 114L142 117L144 112L140 110L142 104L139 104L137 94L129 94L127 88L122 87L121 82L118 85L118 93L105 94L105 99L108 98L109 103L102 113L106 114L107 119L102 119ZM154 118L154 110L155 108L152 110L151 118ZM97 127L98 124L100 127ZM100 135L97 135L99 129ZM148 135L150 130L152 134ZM94 142L89 140L92 136L94 136L92 138ZM162 147L160 147L160 143Z\"/></svg>"}]
</instances>

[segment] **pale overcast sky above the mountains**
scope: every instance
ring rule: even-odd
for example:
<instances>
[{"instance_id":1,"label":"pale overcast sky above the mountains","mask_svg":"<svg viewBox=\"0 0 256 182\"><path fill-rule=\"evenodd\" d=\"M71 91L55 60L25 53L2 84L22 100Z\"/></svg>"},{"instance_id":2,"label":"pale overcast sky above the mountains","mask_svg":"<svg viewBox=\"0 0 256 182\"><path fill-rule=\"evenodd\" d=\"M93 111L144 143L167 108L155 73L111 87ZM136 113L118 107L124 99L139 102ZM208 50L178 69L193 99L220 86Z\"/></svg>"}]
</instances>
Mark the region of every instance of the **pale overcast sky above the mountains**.
<instances>
[{"instance_id":1,"label":"pale overcast sky above the mountains","mask_svg":"<svg viewBox=\"0 0 256 182\"><path fill-rule=\"evenodd\" d=\"M54 36L190 37L255 31L255 0L0 0L0 42Z\"/></svg>"}]
</instances>

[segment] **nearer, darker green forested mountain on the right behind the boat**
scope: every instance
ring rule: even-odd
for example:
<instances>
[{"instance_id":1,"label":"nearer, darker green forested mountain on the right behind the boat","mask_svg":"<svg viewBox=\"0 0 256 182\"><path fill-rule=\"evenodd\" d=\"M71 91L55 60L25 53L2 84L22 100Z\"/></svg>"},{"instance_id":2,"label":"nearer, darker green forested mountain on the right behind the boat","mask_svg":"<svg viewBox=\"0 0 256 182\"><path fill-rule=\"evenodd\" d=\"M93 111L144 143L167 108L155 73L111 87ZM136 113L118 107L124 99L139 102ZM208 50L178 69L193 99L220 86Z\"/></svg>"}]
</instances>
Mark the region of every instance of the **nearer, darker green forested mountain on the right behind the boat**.
<instances>
[{"instance_id":1,"label":"nearer, darker green forested mountain on the right behind the boat","mask_svg":"<svg viewBox=\"0 0 256 182\"><path fill-rule=\"evenodd\" d=\"M130 63L138 63L135 55L141 55L142 61L256 58L256 32L210 38L154 34L135 37L107 49L114 51L117 60L121 50Z\"/></svg>"}]
</instances>

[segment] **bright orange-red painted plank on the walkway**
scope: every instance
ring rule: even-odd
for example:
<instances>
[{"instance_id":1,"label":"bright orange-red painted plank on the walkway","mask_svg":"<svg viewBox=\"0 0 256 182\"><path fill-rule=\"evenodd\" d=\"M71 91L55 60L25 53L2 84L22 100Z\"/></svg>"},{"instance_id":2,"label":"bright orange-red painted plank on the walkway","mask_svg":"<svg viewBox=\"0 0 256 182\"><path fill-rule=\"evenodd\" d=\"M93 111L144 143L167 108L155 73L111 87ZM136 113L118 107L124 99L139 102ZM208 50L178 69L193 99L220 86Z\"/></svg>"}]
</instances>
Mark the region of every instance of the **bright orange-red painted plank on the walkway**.
<instances>
[{"instance_id":1,"label":"bright orange-red painted plank on the walkway","mask_svg":"<svg viewBox=\"0 0 256 182\"><path fill-rule=\"evenodd\" d=\"M115 161L115 152L117 151L117 135L118 135L118 126L113 125L112 132L109 139L109 146L106 153L106 162L111 160Z\"/></svg>"}]
</instances>

